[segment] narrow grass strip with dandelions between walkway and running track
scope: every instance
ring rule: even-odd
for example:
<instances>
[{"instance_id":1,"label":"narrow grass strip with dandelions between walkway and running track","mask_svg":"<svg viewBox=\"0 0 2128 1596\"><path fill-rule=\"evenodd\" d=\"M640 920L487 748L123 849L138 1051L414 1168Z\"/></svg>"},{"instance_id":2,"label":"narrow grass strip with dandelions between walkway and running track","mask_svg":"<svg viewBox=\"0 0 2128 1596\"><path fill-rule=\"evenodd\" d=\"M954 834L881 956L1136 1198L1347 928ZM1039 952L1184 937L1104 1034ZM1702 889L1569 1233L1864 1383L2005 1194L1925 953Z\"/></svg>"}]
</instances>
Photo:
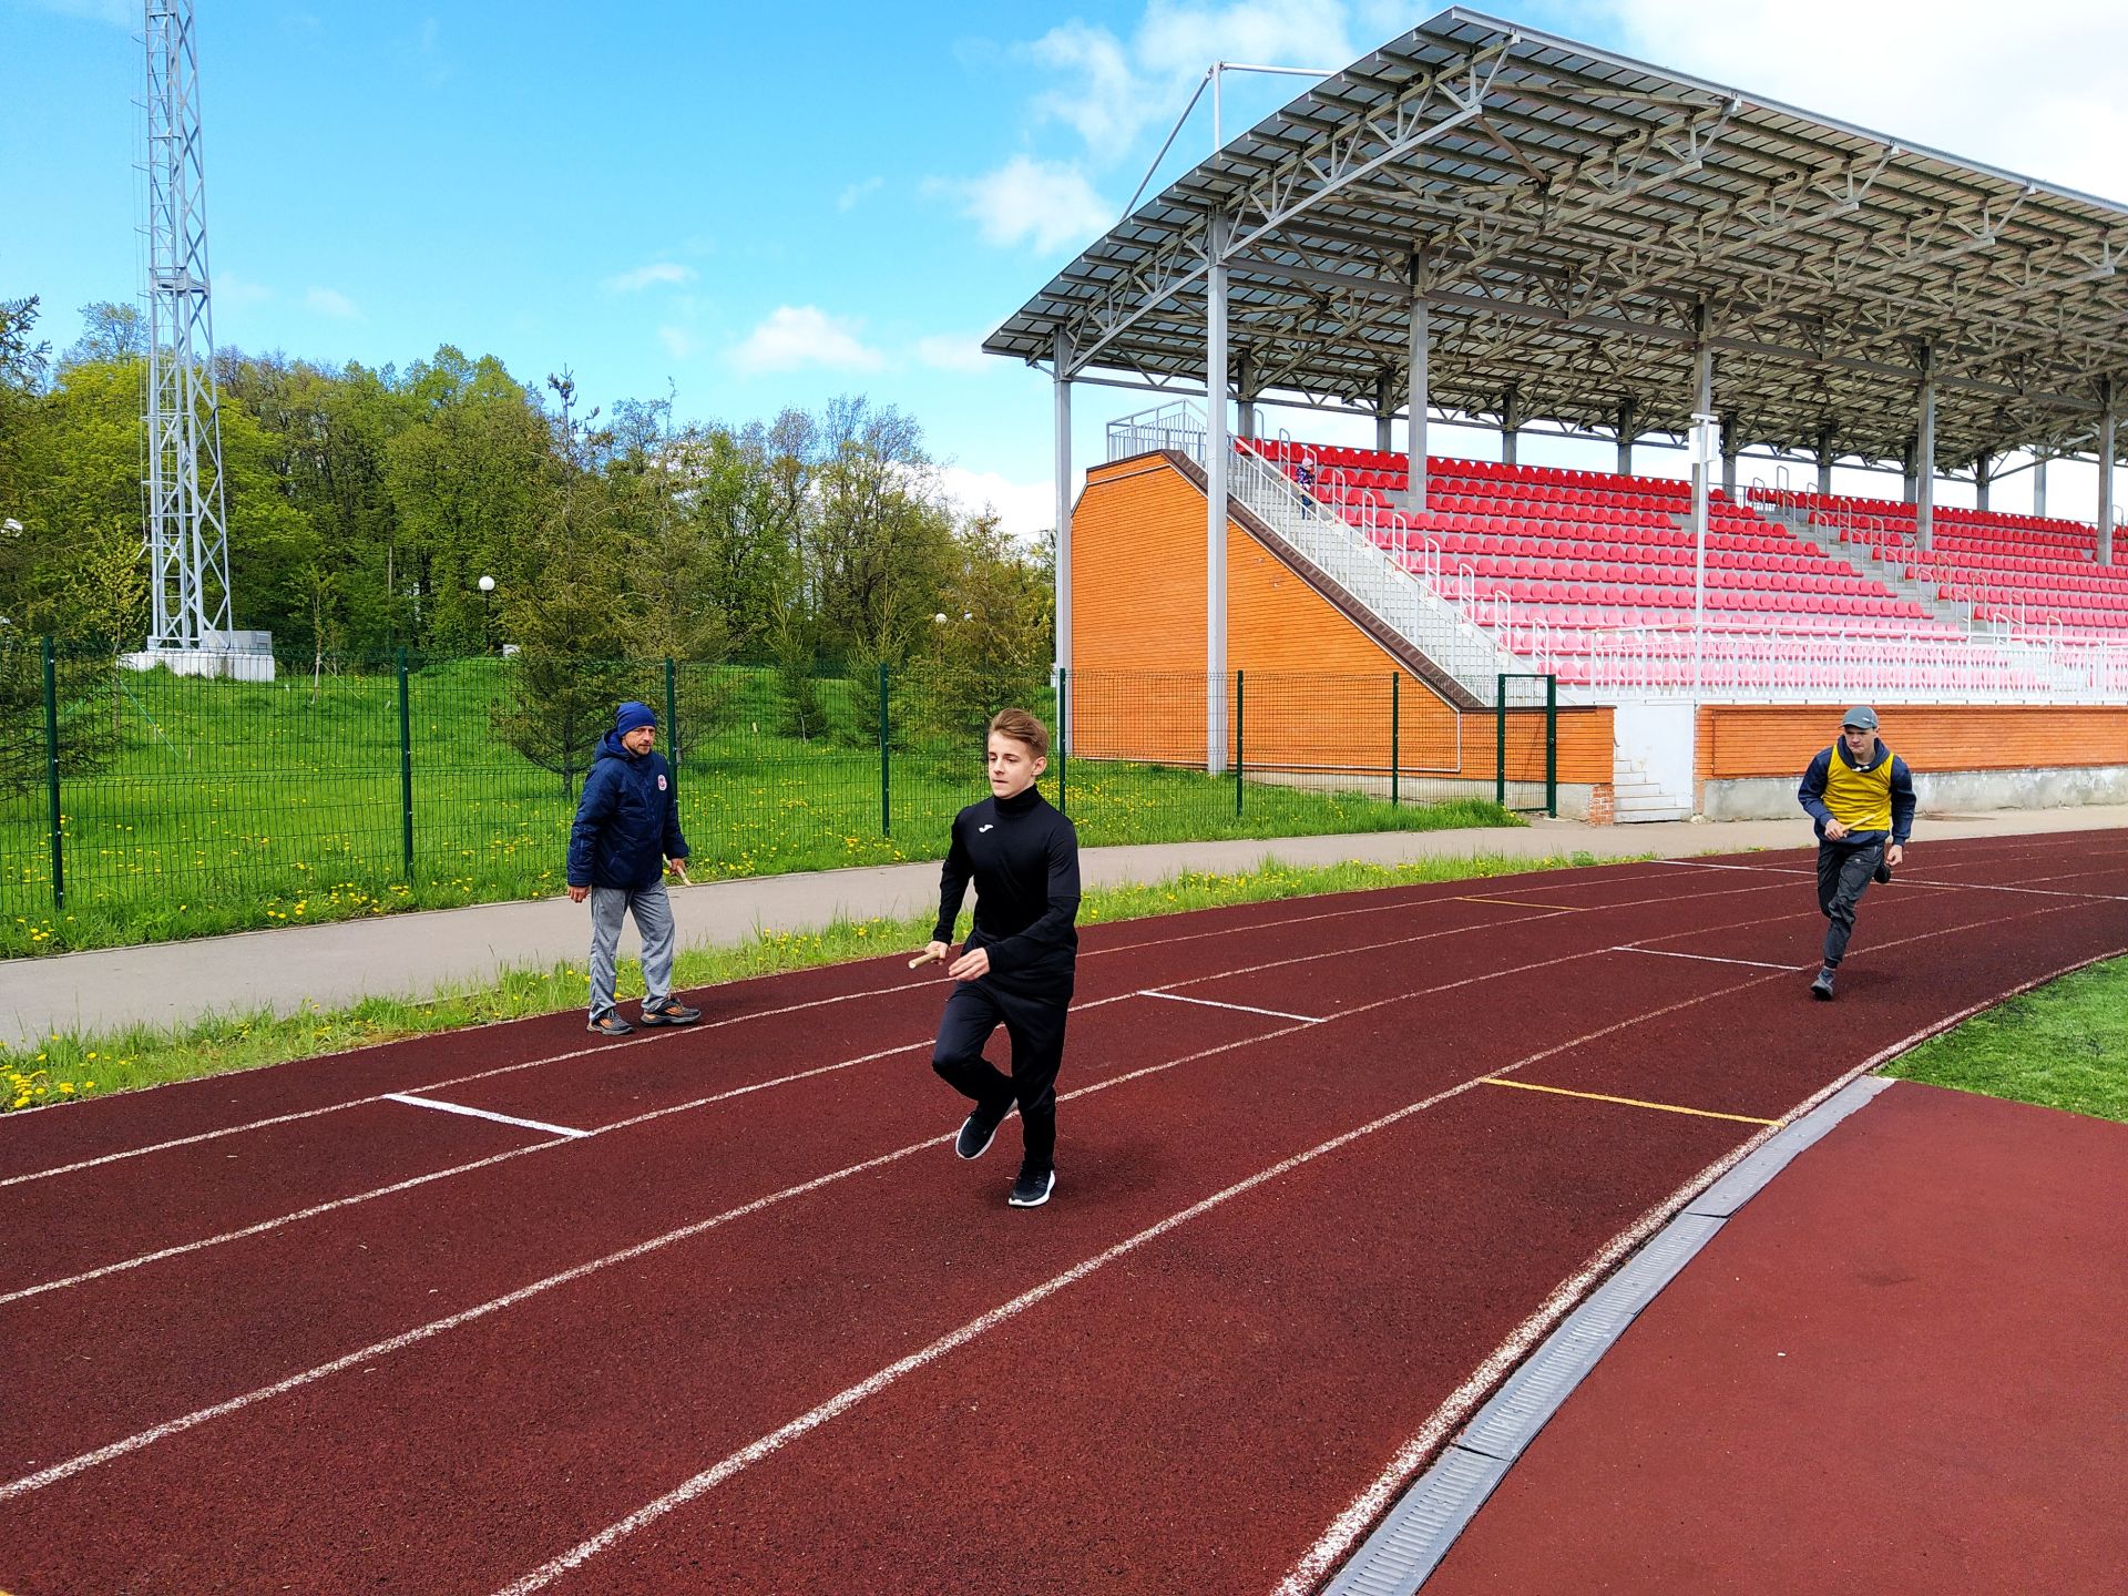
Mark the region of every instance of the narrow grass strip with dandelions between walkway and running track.
<instances>
[{"instance_id":1,"label":"narrow grass strip with dandelions between walkway and running track","mask_svg":"<svg viewBox=\"0 0 2128 1596\"><path fill-rule=\"evenodd\" d=\"M1079 904L1081 926L1100 926L1147 915L1177 915L1190 909L1219 904L1268 902L1275 898L1307 898L1326 892L1362 892L1398 887L1417 881L1468 881L1524 870L1560 870L1596 864L1587 853L1575 858L1456 858L1413 860L1411 864L1332 864L1317 868L1264 866L1238 875L1179 875L1138 887L1090 892ZM749 975L802 970L815 964L843 964L883 951L921 947L930 936L932 917L887 921L838 921L819 932L762 932L738 947L683 951L675 962L675 987L702 987L719 981L741 981ZM643 994L643 970L621 964L621 996ZM294 1058L338 1053L351 1047L428 1036L494 1019L581 1009L585 970L579 964L558 964L547 970L517 970L496 985L451 987L423 1002L400 998L368 998L349 1009L306 1011L289 1017L270 1013L223 1015L187 1026L179 1032L134 1028L123 1032L62 1032L43 1047L19 1053L0 1051L0 1113L68 1102L104 1092L123 1092L160 1081L185 1081L200 1075L281 1064Z\"/></svg>"}]
</instances>

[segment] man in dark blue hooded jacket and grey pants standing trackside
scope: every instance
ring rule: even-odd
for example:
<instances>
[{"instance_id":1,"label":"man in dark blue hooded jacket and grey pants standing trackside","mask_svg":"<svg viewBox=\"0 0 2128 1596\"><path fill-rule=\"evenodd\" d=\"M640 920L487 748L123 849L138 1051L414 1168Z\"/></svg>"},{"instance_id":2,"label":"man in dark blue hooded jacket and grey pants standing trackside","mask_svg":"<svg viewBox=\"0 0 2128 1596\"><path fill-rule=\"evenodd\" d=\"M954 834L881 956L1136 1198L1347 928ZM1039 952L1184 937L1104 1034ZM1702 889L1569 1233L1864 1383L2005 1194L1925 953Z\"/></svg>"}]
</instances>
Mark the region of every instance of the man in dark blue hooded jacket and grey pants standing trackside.
<instances>
[{"instance_id":1,"label":"man in dark blue hooded jacket and grey pants standing trackside","mask_svg":"<svg viewBox=\"0 0 2128 1596\"><path fill-rule=\"evenodd\" d=\"M692 1026L702 1017L672 996L672 900L664 868L687 881L687 838L679 834L672 770L651 751L658 717L649 704L626 702L598 745L583 779L577 824L568 832L570 902L592 900L592 1030L626 1036L634 1030L613 1007L613 953L621 917L636 917L643 938L643 1024Z\"/></svg>"}]
</instances>

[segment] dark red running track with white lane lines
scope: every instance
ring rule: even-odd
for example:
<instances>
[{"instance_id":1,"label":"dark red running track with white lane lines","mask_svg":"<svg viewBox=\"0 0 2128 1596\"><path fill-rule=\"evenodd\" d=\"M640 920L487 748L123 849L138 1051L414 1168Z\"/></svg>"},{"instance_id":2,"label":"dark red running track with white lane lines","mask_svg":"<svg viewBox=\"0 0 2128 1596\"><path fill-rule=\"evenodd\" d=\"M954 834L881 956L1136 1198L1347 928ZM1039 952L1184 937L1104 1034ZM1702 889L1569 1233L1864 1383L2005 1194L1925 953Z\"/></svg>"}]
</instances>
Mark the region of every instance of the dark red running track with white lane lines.
<instances>
[{"instance_id":1,"label":"dark red running track with white lane lines","mask_svg":"<svg viewBox=\"0 0 2128 1596\"><path fill-rule=\"evenodd\" d=\"M1038 1211L892 960L11 1117L0 1587L1311 1590L1773 1121L2128 949L2122 841L1917 849L1832 1009L1807 855L1092 928Z\"/></svg>"}]
</instances>

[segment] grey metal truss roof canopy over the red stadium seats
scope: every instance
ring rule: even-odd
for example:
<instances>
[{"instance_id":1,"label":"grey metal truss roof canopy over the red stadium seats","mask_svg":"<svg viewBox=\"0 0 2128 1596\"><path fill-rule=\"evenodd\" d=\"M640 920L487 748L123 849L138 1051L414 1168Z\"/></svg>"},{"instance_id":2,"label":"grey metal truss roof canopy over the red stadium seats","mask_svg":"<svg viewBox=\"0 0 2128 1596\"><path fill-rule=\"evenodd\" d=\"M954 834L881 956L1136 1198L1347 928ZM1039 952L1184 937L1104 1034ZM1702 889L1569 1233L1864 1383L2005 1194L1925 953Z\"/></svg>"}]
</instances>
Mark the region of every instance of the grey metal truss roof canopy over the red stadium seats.
<instances>
[{"instance_id":1,"label":"grey metal truss roof canopy over the red stadium seats","mask_svg":"<svg viewBox=\"0 0 2128 1596\"><path fill-rule=\"evenodd\" d=\"M1202 392L1215 228L1243 398L1941 468L2083 451L2128 389L2128 206L1590 45L1443 11L1228 140L985 349ZM1058 368L1062 351L1062 368ZM1630 413L1626 413L1630 406ZM1830 432L1828 432L1830 430Z\"/></svg>"}]
</instances>

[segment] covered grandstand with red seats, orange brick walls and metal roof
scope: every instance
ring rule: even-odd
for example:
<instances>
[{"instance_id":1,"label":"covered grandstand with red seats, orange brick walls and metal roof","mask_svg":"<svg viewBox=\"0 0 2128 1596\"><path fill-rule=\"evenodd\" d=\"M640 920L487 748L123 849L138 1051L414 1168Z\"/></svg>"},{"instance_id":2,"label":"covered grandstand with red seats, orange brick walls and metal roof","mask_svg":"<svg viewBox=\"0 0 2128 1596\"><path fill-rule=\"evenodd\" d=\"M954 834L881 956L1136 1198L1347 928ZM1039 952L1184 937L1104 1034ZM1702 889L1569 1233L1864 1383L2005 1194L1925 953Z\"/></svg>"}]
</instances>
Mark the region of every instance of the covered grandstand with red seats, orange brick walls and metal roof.
<instances>
[{"instance_id":1,"label":"covered grandstand with red seats, orange brick walls and metal roof","mask_svg":"<svg viewBox=\"0 0 2128 1596\"><path fill-rule=\"evenodd\" d=\"M1445 11L987 340L1055 379L1058 664L1219 683L1373 651L1462 717L1553 677L1575 802L1622 819L1781 813L1856 698L1911 711L1888 724L1924 802L2128 796L2124 240L2119 204ZM1162 402L1109 423L1070 504L1079 383ZM1375 447L1262 436L1266 404L1373 417ZM1439 423L1498 426L1500 462L1430 453ZM1619 468L1517 464L1532 432ZM1636 475L1649 440L1690 445L1692 481ZM1773 485L1739 485L1745 449ZM2079 453L2107 462L2094 523L1934 504L1939 477ZM1817 492L1788 487L1809 462ZM1834 496L1834 462L1907 494ZM1236 626L1266 560L1298 581L1249 577ZM1228 694L1202 713L1219 770Z\"/></svg>"}]
</instances>

